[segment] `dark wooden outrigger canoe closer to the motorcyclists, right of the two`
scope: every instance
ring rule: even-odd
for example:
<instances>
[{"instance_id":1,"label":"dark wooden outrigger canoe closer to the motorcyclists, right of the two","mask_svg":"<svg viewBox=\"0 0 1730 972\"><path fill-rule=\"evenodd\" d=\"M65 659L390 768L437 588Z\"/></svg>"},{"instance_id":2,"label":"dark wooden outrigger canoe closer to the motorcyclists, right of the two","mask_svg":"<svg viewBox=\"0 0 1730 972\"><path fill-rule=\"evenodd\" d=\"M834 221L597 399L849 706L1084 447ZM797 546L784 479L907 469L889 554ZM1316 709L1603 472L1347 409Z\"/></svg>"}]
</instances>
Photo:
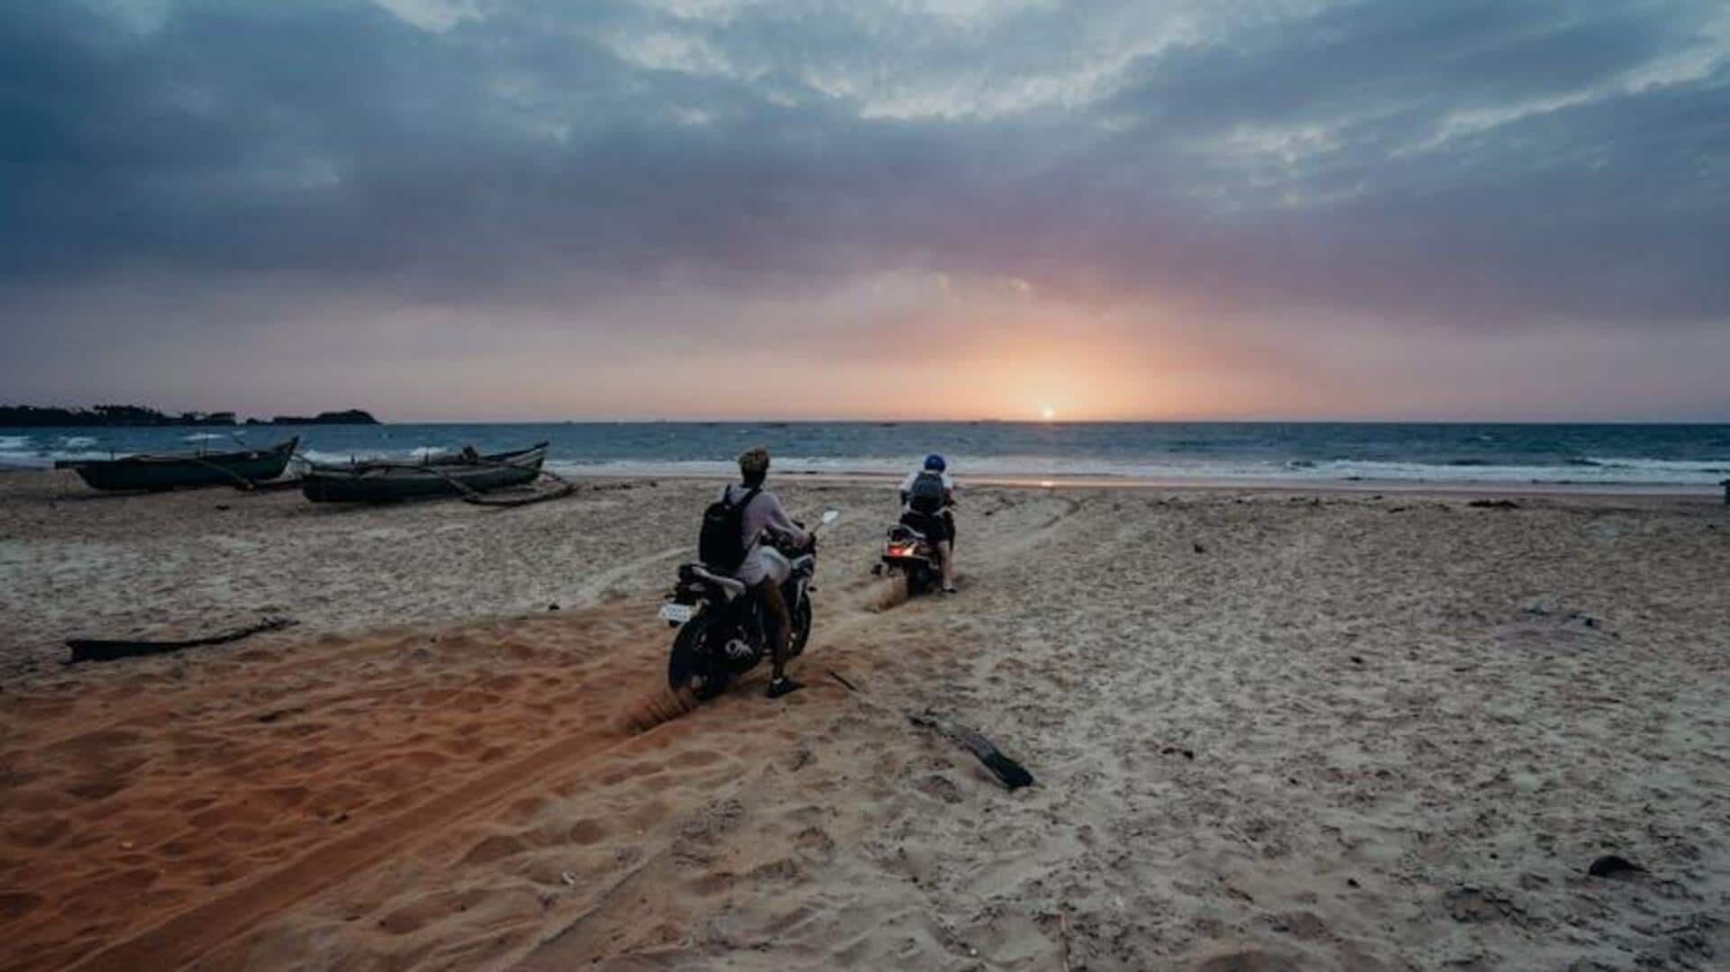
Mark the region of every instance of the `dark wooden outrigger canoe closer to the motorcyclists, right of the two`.
<instances>
[{"instance_id":1,"label":"dark wooden outrigger canoe closer to the motorcyclists, right of the two","mask_svg":"<svg viewBox=\"0 0 1730 972\"><path fill-rule=\"evenodd\" d=\"M417 464L356 462L313 465L301 476L301 493L315 503L394 503L424 496L469 496L507 486L528 486L547 462L547 443L477 457L438 457Z\"/></svg>"}]
</instances>

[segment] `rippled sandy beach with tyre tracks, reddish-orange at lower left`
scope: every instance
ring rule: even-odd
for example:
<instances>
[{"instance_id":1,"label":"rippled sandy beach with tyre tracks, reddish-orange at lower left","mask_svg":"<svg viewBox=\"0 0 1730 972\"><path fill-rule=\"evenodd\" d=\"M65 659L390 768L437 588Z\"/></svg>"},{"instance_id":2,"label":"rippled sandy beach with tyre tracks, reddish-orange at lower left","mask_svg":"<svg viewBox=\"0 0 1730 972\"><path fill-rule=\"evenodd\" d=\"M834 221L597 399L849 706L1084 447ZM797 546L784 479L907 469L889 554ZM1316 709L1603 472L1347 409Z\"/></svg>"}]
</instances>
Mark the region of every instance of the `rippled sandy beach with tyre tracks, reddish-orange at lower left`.
<instances>
[{"instance_id":1,"label":"rippled sandy beach with tyre tracks, reddish-orange at lower left","mask_svg":"<svg viewBox=\"0 0 1730 972\"><path fill-rule=\"evenodd\" d=\"M680 713L654 611L709 483L0 476L0 969L1730 960L1716 498L979 488L962 593L903 602L884 488L772 486L844 514L806 688Z\"/></svg>"}]
</instances>

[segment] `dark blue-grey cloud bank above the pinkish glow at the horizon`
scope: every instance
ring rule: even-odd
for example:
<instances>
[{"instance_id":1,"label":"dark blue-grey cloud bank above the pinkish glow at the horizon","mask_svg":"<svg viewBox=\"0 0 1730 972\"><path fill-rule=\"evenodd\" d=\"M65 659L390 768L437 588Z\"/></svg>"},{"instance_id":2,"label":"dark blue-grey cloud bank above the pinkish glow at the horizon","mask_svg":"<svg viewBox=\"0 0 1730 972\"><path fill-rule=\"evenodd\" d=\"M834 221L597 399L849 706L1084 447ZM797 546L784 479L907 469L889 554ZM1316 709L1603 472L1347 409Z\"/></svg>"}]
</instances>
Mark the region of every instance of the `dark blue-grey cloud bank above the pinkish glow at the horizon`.
<instances>
[{"instance_id":1,"label":"dark blue-grey cloud bank above the pinkish glow at the horizon","mask_svg":"<svg viewBox=\"0 0 1730 972\"><path fill-rule=\"evenodd\" d=\"M137 280L175 294L126 323L164 348L247 327L164 310L201 294L256 327L585 327L907 272L1268 322L1730 320L1714 3L114 14L156 7L0 7L0 301L36 349L9 380L64 358L43 320L123 315Z\"/></svg>"}]
</instances>

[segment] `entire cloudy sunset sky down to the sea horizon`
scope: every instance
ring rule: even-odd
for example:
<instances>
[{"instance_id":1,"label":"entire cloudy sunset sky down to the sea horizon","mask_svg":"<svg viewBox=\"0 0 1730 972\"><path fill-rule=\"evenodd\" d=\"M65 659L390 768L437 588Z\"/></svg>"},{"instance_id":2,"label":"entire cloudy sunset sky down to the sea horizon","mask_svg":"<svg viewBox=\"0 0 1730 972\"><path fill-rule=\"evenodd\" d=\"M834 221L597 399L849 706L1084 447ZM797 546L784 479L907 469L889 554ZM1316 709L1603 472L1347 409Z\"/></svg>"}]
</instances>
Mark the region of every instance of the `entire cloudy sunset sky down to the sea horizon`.
<instances>
[{"instance_id":1,"label":"entire cloudy sunset sky down to the sea horizon","mask_svg":"<svg viewBox=\"0 0 1730 972\"><path fill-rule=\"evenodd\" d=\"M1730 5L0 3L0 403L1730 420Z\"/></svg>"}]
</instances>

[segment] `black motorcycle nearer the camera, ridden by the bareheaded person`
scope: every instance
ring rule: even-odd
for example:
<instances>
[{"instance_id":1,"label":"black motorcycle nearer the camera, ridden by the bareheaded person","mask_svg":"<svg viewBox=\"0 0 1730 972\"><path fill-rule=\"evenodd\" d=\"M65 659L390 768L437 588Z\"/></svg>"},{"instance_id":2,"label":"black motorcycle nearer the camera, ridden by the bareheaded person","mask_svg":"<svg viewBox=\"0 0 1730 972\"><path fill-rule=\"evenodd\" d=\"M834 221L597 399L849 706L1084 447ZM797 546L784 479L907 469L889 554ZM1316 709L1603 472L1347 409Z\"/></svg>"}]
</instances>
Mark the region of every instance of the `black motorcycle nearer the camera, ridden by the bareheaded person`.
<instances>
[{"instance_id":1,"label":"black motorcycle nearer the camera, ridden by the bareheaded person","mask_svg":"<svg viewBox=\"0 0 1730 972\"><path fill-rule=\"evenodd\" d=\"M825 510L817 529L836 522L837 510ZM780 593L792 617L792 657L804 654L811 640L811 574L817 572L817 529L804 550L777 550L792 564ZM714 699L734 678L751 671L773 652L770 619L758 598L749 597L744 581L711 571L704 564L680 564L678 585L659 617L678 628L666 664L666 681L673 692L690 690L699 700Z\"/></svg>"}]
</instances>

